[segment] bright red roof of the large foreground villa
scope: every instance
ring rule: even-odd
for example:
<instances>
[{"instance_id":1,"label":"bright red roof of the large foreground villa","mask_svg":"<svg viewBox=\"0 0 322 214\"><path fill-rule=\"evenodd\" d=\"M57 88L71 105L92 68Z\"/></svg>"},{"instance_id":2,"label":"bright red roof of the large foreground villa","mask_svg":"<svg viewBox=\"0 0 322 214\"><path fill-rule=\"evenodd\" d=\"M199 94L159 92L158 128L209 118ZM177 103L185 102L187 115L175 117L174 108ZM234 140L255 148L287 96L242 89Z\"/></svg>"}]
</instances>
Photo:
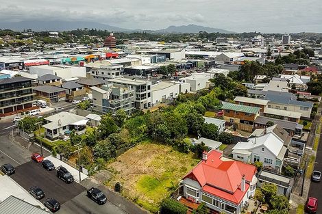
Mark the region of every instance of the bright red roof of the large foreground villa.
<instances>
[{"instance_id":1,"label":"bright red roof of the large foreground villa","mask_svg":"<svg viewBox=\"0 0 322 214\"><path fill-rule=\"evenodd\" d=\"M184 178L197 179L203 191L214 196L239 204L247 192L240 190L240 183L245 175L245 180L250 183L256 174L253 165L240 161L223 161L223 153L219 150L210 150L207 161L201 161Z\"/></svg>"}]
</instances>

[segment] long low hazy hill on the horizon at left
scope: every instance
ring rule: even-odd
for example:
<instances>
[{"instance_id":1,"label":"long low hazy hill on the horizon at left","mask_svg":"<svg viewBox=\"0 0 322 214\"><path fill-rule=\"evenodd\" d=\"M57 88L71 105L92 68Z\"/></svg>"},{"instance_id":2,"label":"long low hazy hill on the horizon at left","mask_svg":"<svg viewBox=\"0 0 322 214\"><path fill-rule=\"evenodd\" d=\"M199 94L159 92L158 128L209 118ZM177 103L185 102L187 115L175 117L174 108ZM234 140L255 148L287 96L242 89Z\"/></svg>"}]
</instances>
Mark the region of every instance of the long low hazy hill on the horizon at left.
<instances>
[{"instance_id":1,"label":"long low hazy hill on the horizon at left","mask_svg":"<svg viewBox=\"0 0 322 214\"><path fill-rule=\"evenodd\" d=\"M23 31L23 29L32 29L33 31L69 31L73 29L102 29L115 32L132 31L121 27L114 27L95 22L84 21L21 21L21 22L1 22L1 29L12 29L14 31Z\"/></svg>"}]
</instances>

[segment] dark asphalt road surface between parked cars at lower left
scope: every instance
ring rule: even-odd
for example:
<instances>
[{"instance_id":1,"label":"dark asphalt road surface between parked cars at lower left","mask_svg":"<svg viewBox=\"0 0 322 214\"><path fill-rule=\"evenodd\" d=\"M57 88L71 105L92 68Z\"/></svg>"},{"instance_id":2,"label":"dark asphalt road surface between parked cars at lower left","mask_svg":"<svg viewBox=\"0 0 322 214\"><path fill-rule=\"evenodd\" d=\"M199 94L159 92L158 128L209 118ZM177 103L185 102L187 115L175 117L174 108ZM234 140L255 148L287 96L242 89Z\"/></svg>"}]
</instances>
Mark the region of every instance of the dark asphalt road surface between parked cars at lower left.
<instances>
[{"instance_id":1,"label":"dark asphalt road surface between parked cars at lower left","mask_svg":"<svg viewBox=\"0 0 322 214\"><path fill-rule=\"evenodd\" d=\"M85 188L78 183L66 184L56 176L57 171L47 171L36 161L29 161L16 167L16 173L10 176L25 189L37 186L45 191L45 198L55 198L60 204L71 200L85 191Z\"/></svg>"}]
</instances>

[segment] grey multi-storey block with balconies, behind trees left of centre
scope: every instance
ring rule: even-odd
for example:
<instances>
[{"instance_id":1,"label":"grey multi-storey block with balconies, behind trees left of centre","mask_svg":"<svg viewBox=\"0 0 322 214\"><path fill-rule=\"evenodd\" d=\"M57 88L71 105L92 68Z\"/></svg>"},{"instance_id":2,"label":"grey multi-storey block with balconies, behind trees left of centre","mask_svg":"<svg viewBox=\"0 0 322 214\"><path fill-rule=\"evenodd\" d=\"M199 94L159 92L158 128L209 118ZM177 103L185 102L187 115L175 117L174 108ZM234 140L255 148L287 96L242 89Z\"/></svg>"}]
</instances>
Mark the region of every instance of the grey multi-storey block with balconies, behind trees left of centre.
<instances>
[{"instance_id":1,"label":"grey multi-storey block with balconies, behind trees left of centre","mask_svg":"<svg viewBox=\"0 0 322 214\"><path fill-rule=\"evenodd\" d=\"M116 113L123 109L130 115L135 108L135 90L132 85L109 83L101 88L91 87L93 110L100 113Z\"/></svg>"}]
</instances>

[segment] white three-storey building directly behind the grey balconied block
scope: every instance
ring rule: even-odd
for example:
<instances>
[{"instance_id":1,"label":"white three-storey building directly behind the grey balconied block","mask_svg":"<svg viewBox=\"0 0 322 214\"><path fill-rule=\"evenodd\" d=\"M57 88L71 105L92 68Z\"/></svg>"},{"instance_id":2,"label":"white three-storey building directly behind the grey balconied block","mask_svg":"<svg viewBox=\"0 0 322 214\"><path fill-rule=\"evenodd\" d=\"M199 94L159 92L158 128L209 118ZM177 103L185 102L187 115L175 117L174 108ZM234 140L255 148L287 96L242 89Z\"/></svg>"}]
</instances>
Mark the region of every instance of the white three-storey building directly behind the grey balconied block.
<instances>
[{"instance_id":1,"label":"white three-storey building directly behind the grey balconied block","mask_svg":"<svg viewBox=\"0 0 322 214\"><path fill-rule=\"evenodd\" d=\"M127 86L134 90L136 109L147 109L152 106L152 88L151 81L138 79L115 78L108 79L107 83L117 83Z\"/></svg>"}]
</instances>

